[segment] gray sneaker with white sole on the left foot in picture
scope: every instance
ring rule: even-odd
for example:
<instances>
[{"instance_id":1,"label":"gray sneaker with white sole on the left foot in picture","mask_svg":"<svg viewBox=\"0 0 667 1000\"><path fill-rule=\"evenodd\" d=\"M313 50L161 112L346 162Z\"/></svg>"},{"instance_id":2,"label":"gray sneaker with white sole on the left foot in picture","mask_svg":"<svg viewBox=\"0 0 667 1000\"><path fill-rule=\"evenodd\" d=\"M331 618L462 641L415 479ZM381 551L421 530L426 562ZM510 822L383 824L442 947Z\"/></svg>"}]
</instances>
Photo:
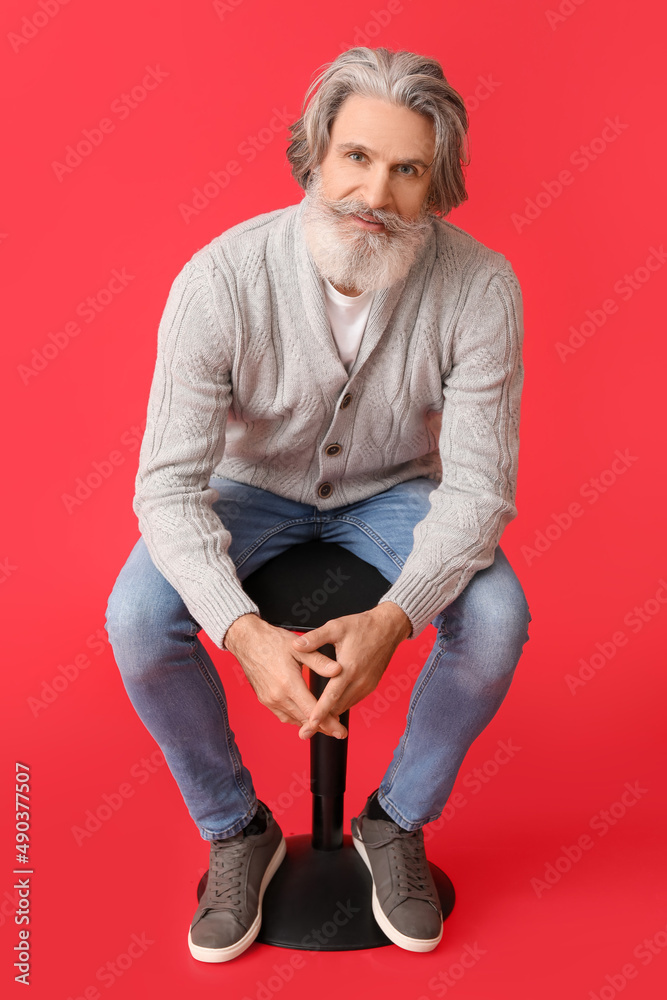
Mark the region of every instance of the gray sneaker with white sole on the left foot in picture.
<instances>
[{"instance_id":1,"label":"gray sneaker with white sole on the left foot in picture","mask_svg":"<svg viewBox=\"0 0 667 1000\"><path fill-rule=\"evenodd\" d=\"M211 841L208 882L188 932L190 954L200 962L228 962L259 934L264 892L287 850L282 830L263 802L261 812L264 833L250 825L233 837Z\"/></svg>"}]
</instances>

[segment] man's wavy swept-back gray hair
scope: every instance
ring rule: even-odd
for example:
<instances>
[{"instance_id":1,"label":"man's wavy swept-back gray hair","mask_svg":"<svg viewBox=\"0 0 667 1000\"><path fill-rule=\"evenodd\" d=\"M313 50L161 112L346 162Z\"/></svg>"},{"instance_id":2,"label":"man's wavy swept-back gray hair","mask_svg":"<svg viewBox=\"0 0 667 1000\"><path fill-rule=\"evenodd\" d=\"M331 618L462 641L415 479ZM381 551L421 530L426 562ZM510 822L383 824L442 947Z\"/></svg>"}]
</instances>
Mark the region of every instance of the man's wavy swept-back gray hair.
<instances>
[{"instance_id":1,"label":"man's wavy swept-back gray hair","mask_svg":"<svg viewBox=\"0 0 667 1000\"><path fill-rule=\"evenodd\" d=\"M435 155L425 208L444 216L467 200L463 166L469 163L468 114L463 98L436 59L366 46L347 49L324 64L306 91L301 117L290 125L287 159L304 190L326 155L331 126L350 94L380 98L428 117L435 131Z\"/></svg>"}]
</instances>

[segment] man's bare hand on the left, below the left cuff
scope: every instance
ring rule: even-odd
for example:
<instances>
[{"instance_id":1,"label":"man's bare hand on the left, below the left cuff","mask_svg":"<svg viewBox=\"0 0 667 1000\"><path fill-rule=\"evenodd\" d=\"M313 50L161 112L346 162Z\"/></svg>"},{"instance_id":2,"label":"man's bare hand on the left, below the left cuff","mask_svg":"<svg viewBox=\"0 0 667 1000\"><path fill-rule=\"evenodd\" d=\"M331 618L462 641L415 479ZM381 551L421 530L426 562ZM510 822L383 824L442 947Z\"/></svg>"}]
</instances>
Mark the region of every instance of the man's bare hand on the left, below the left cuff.
<instances>
[{"instance_id":1,"label":"man's bare hand on the left, below the left cuff","mask_svg":"<svg viewBox=\"0 0 667 1000\"><path fill-rule=\"evenodd\" d=\"M270 625L256 614L247 614L229 626L224 646L241 664L261 704L281 722L303 726L316 698L303 679L301 664L305 658L293 646L293 638L293 632ZM308 654L308 666L322 677L333 677L341 670L335 660L317 652ZM338 715L328 712L320 712L318 723L311 728L339 739L347 736Z\"/></svg>"}]
</instances>

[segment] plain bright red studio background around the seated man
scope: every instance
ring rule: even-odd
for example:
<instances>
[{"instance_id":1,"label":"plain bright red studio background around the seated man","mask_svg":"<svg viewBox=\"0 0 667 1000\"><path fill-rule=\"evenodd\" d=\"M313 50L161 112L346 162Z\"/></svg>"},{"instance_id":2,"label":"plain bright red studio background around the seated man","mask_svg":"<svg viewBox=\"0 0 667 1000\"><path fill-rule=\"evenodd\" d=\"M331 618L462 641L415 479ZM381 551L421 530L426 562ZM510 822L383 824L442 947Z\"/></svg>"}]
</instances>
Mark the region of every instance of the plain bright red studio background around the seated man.
<instances>
[{"instance_id":1,"label":"plain bright red studio background around the seated man","mask_svg":"<svg viewBox=\"0 0 667 1000\"><path fill-rule=\"evenodd\" d=\"M43 2L51 9L57 0ZM186 935L206 845L166 766L155 766L159 754L153 773L143 770L156 745L124 692L104 612L138 537L137 446L171 281L227 227L300 200L284 155L287 128L271 132L269 123L276 109L294 120L318 68L353 44L435 56L468 99L470 200L450 218L504 253L523 288L519 516L502 544L533 622L510 694L459 775L465 805L428 839L458 893L439 948L298 953L303 962L283 991L328 1000L381 989L430 1000L445 995L437 977L470 945L483 954L456 982L458 1000L663 995L665 272L641 268L667 239L665 25L657 2L564 0L558 9L557 0L314 8L235 0L218 12L204 0L118 0L68 3L45 18L36 17L38 0L4 4L2 87L12 98L0 222L0 982L12 996L21 991L12 969L15 761L32 775L33 997L65 1000L96 987L128 1000L221 990L254 1000L269 989L273 966L297 954L255 944L223 966L191 959ZM125 118L114 113L156 66L166 74L159 85ZM105 117L113 130L58 179L54 161ZM607 119L617 134L600 142ZM243 144L267 128L250 160ZM231 159L238 176L186 223L179 206ZM559 191L563 170L571 182ZM518 220L539 192L539 211ZM114 269L133 277L85 322L77 306ZM626 274L631 294L622 291ZM77 318L80 333L47 350L39 370L45 345ZM562 360L557 345L587 319L589 335ZM600 481L617 450L629 464ZM68 510L78 477L113 452L121 457L111 474ZM575 503L580 516L568 524ZM627 618L635 607L644 609L639 626ZM431 632L400 647L380 694L423 662ZM204 641L258 794L282 802L286 834L306 830L309 797L287 790L308 767L307 746L257 703L231 655ZM596 652L590 679L571 690L568 675ZM68 670L56 691L54 679ZM408 697L368 724L353 714L348 824L384 773ZM499 740L520 750L499 769L487 766L485 775L498 773L474 792L466 776L492 760ZM116 801L125 782L129 797L77 844L73 828L86 811L105 795ZM594 817L619 802L626 782L644 791L601 835ZM558 881L531 882L584 834L592 846ZM99 978L133 934L151 942L145 952L122 977ZM644 939L655 954L642 950Z\"/></svg>"}]
</instances>

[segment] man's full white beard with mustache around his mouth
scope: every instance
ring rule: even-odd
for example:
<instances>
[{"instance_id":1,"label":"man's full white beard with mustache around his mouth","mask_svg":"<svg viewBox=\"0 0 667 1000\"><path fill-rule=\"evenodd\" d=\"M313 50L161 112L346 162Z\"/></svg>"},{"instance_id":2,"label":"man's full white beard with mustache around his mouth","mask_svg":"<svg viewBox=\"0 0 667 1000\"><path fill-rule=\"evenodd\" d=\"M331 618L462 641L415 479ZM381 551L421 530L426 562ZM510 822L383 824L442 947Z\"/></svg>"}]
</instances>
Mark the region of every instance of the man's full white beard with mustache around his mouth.
<instances>
[{"instance_id":1,"label":"man's full white beard with mustache around his mouth","mask_svg":"<svg viewBox=\"0 0 667 1000\"><path fill-rule=\"evenodd\" d=\"M393 285L410 270L431 230L431 214L423 210L417 219L404 219L383 209L370 211L360 201L325 198L319 167L304 200L304 235L317 269L344 288L365 292ZM349 218L357 213L383 222L384 231L362 229Z\"/></svg>"}]
</instances>

